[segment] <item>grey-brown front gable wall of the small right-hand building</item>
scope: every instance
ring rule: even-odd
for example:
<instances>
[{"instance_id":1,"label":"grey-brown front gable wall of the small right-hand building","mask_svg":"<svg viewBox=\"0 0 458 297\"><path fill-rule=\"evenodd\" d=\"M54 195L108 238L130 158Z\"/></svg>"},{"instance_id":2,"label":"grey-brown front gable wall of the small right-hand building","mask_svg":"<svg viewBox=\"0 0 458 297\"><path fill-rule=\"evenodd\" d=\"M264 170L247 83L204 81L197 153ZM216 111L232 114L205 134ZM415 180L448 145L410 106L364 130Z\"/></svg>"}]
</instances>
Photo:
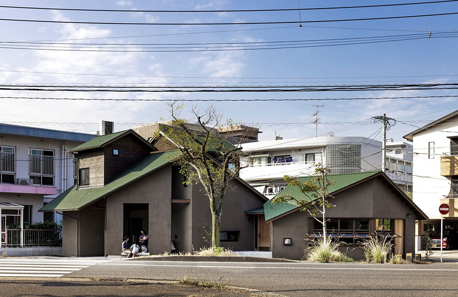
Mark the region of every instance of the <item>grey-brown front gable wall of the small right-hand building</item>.
<instances>
[{"instance_id":1,"label":"grey-brown front gable wall of the small right-hand building","mask_svg":"<svg viewBox=\"0 0 458 297\"><path fill-rule=\"evenodd\" d=\"M330 202L335 207L326 211L327 218L383 218L405 220L405 253L415 252L415 216L407 217L412 211L393 191L377 178L356 185L335 195ZM275 258L300 259L304 255L307 242L308 219L306 212L296 211L272 222L272 256ZM369 232L374 232L375 223L371 220ZM283 246L283 238L291 237L292 245ZM356 248L356 249L355 249ZM362 259L363 254L356 245L342 246L340 251L354 259Z\"/></svg>"}]
</instances>

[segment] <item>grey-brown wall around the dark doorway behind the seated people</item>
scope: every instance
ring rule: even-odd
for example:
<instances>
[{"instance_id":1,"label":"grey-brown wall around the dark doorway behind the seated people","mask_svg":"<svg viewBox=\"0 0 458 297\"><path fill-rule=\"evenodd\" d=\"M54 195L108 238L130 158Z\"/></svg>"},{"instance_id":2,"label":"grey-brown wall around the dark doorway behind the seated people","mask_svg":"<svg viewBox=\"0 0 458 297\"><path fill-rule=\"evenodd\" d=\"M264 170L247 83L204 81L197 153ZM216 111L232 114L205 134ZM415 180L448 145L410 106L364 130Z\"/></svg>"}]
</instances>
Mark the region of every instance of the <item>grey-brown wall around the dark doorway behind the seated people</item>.
<instances>
[{"instance_id":1,"label":"grey-brown wall around the dark doorway behind the seated people","mask_svg":"<svg viewBox=\"0 0 458 297\"><path fill-rule=\"evenodd\" d=\"M107 253L119 255L123 242L124 203L148 203L149 251L170 252L171 166L162 168L107 197ZM139 234L138 234L139 235Z\"/></svg>"}]
</instances>

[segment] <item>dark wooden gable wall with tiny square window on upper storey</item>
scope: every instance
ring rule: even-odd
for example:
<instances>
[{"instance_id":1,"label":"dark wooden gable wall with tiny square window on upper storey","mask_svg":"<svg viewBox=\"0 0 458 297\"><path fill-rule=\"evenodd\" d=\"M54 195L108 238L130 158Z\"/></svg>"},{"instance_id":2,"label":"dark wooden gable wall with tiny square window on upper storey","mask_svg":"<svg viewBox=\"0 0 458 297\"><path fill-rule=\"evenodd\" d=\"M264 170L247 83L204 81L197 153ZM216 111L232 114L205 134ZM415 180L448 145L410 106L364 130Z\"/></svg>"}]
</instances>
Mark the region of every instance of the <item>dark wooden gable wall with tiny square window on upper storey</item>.
<instances>
[{"instance_id":1,"label":"dark wooden gable wall with tiny square window on upper storey","mask_svg":"<svg viewBox=\"0 0 458 297\"><path fill-rule=\"evenodd\" d=\"M153 151L147 144L131 134L106 145L104 149L105 185ZM119 150L119 156L113 156L113 149Z\"/></svg>"}]
</instances>

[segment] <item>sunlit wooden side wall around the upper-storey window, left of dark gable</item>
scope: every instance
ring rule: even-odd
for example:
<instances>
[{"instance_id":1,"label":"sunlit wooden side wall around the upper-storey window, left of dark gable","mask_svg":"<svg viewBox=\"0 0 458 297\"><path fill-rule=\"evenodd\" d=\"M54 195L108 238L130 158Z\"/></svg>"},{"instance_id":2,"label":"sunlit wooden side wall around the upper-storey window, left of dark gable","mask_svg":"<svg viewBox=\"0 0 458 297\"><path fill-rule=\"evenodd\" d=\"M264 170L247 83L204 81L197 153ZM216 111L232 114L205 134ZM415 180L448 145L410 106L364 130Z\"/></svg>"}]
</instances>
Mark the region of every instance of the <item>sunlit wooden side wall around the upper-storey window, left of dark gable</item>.
<instances>
[{"instance_id":1,"label":"sunlit wooden side wall around the upper-storey window, left of dark gable","mask_svg":"<svg viewBox=\"0 0 458 297\"><path fill-rule=\"evenodd\" d=\"M103 186L104 182L104 156L103 150L80 152L78 154L78 168L89 168L89 186ZM78 173L79 174L79 173ZM79 182L79 181L78 181Z\"/></svg>"}]
</instances>

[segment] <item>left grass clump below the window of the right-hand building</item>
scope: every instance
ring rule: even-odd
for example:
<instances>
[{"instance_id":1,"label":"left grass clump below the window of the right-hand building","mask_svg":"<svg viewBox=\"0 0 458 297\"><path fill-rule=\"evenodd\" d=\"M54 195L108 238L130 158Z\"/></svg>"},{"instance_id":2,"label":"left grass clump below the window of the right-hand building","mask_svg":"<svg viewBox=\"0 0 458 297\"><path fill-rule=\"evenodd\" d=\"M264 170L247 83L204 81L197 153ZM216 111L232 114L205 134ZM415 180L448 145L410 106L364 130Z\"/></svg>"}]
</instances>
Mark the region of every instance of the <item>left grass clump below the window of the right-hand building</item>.
<instances>
[{"instance_id":1,"label":"left grass clump below the window of the right-hand building","mask_svg":"<svg viewBox=\"0 0 458 297\"><path fill-rule=\"evenodd\" d=\"M341 245L339 242L333 242L329 237L323 239L308 240L309 246L304 250L304 258L308 261L328 262L351 262L352 258L339 252L338 248Z\"/></svg>"}]
</instances>

